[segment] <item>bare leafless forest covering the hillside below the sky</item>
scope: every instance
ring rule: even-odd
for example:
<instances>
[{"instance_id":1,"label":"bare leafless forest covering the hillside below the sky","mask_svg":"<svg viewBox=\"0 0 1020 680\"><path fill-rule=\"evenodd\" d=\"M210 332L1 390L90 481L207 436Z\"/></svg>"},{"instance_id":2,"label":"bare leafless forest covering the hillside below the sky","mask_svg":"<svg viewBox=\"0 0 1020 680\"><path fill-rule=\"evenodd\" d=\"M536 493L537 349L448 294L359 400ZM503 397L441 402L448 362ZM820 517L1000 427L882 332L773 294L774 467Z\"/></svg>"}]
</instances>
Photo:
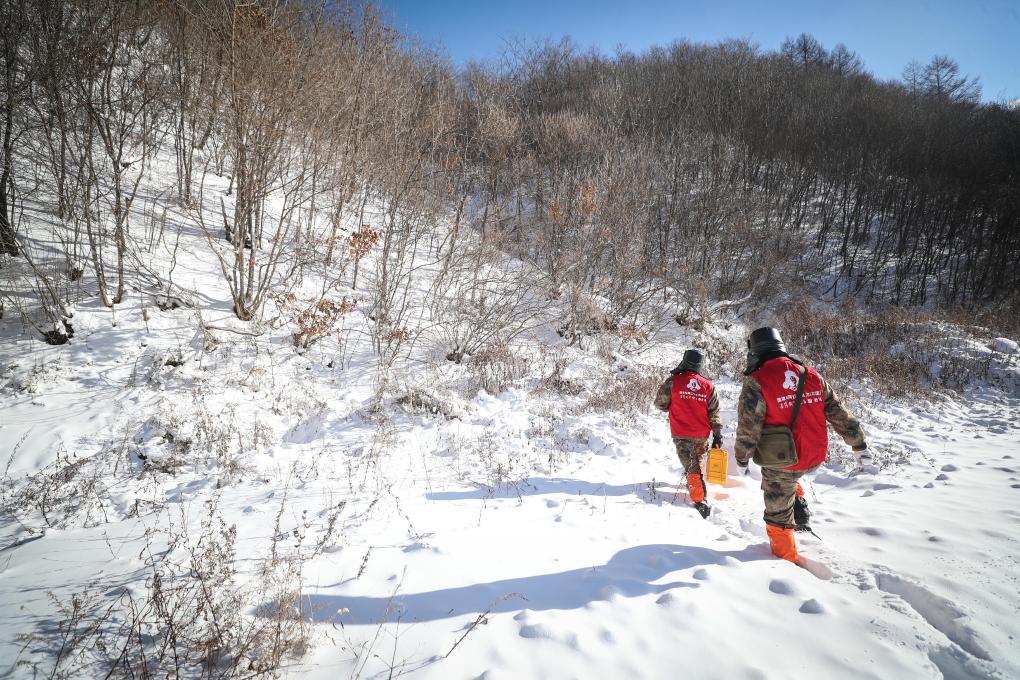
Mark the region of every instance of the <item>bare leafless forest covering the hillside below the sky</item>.
<instances>
[{"instance_id":1,"label":"bare leafless forest covering the hillside below the sky","mask_svg":"<svg viewBox=\"0 0 1020 680\"><path fill-rule=\"evenodd\" d=\"M53 342L83 286L107 306L133 275L172 295L129 238L161 154L172 200L231 245L241 319L307 265L309 224L334 225L327 262L346 257L340 225L376 199L386 225L359 238L397 258L373 301L391 330L406 254L441 217L532 264L516 283L568 300L570 337L640 328L667 289L1018 317L1020 111L980 103L948 57L879 82L807 35L612 56L564 39L458 69L370 5L2 11L3 298ZM222 205L203 204L211 175L230 177ZM43 195L57 220L41 240L24 204Z\"/></svg>"}]
</instances>

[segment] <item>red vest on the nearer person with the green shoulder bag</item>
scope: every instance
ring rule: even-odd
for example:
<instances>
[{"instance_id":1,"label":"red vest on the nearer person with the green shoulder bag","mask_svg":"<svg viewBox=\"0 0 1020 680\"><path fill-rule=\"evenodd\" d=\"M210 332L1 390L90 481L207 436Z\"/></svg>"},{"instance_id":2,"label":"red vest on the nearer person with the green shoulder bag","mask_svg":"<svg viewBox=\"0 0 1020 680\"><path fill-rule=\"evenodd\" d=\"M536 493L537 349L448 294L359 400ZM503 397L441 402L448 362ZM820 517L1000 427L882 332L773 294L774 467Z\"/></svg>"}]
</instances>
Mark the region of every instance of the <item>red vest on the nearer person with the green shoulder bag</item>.
<instances>
[{"instance_id":1,"label":"red vest on the nearer person with the green shoulder bag","mask_svg":"<svg viewBox=\"0 0 1020 680\"><path fill-rule=\"evenodd\" d=\"M794 442L797 444L797 465L787 470L806 470L825 462L828 458L828 430L825 425L825 387L818 371L805 366L804 397L794 425ZM797 381L800 366L786 357L769 359L752 373L765 397L766 425L786 425L794 418L797 399Z\"/></svg>"}]
</instances>

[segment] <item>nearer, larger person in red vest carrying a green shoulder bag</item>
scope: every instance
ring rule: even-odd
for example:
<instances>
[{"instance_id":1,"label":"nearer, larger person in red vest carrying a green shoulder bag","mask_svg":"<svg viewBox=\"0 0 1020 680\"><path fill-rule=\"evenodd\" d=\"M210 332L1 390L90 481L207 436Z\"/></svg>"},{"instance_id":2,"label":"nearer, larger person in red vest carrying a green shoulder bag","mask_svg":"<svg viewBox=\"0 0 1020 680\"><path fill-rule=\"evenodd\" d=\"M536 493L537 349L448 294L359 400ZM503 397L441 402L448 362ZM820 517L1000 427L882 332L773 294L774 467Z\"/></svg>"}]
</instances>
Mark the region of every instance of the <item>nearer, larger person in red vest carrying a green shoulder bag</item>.
<instances>
[{"instance_id":1,"label":"nearer, larger person in red vest carrying a green shoulder bag","mask_svg":"<svg viewBox=\"0 0 1020 680\"><path fill-rule=\"evenodd\" d=\"M786 468L761 469L765 527L772 554L790 562L798 558L795 529L811 530L808 524L811 513L800 478L818 469L828 458L826 423L851 446L862 466L873 463L861 423L844 408L818 371L786 354L779 331L765 327L758 328L748 338L748 368L736 403L736 464L747 467L763 426L789 426L802 371L804 388L793 428L798 462Z\"/></svg>"}]
</instances>

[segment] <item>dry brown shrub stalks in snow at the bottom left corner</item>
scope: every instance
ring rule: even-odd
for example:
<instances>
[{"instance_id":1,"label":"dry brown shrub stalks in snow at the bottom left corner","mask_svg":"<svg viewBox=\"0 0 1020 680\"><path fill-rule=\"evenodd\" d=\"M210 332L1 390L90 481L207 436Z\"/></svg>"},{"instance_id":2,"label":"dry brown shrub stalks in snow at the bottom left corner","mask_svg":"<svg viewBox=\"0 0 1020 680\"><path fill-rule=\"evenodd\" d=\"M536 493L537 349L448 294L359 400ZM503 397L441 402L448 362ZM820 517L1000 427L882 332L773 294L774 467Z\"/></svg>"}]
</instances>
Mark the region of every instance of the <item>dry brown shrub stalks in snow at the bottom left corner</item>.
<instances>
[{"instance_id":1,"label":"dry brown shrub stalks in snow at the bottom left corner","mask_svg":"<svg viewBox=\"0 0 1020 680\"><path fill-rule=\"evenodd\" d=\"M24 638L35 655L17 665L49 678L276 677L307 650L302 568L335 539L342 511L343 504L328 509L312 535L307 519L282 530L282 506L268 551L251 573L240 571L237 529L215 503L199 531L187 522L150 530L144 582L66 600L51 594L60 620Z\"/></svg>"}]
</instances>

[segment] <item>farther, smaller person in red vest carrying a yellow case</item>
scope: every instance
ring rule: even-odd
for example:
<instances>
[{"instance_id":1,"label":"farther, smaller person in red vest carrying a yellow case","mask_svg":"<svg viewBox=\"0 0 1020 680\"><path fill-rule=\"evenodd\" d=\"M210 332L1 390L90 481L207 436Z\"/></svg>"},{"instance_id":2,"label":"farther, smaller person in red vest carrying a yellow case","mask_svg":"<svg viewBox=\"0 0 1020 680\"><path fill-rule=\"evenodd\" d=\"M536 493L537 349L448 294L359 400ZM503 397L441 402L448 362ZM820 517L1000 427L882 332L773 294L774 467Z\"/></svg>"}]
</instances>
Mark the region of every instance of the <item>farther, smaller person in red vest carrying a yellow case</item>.
<instances>
[{"instance_id":1,"label":"farther, smaller person in red vest carrying a yellow case","mask_svg":"<svg viewBox=\"0 0 1020 680\"><path fill-rule=\"evenodd\" d=\"M722 423L719 398L712 381L703 375L704 367L705 354L701 350L684 352L683 360L659 387L655 406L669 413L669 432L687 478L687 493L695 509L708 519L712 508L705 503L701 460L708 451L710 432L712 447L722 446Z\"/></svg>"}]
</instances>

